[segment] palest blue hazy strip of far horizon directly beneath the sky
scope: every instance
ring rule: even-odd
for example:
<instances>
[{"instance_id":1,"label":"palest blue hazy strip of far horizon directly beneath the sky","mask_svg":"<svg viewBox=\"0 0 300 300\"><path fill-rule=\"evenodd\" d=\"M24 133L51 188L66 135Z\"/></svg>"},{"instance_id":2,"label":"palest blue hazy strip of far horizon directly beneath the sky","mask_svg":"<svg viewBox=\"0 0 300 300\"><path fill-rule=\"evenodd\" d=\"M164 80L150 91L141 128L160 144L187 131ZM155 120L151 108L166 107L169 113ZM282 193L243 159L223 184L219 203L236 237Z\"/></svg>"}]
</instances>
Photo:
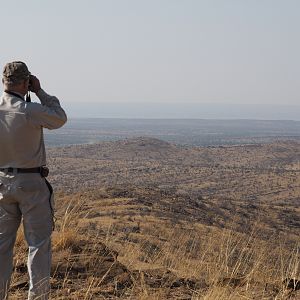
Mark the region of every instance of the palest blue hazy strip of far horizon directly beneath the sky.
<instances>
[{"instance_id":1,"label":"palest blue hazy strip of far horizon directly beneath the sky","mask_svg":"<svg viewBox=\"0 0 300 300\"><path fill-rule=\"evenodd\" d=\"M62 103L69 118L300 121L300 105L192 102Z\"/></svg>"}]
</instances>

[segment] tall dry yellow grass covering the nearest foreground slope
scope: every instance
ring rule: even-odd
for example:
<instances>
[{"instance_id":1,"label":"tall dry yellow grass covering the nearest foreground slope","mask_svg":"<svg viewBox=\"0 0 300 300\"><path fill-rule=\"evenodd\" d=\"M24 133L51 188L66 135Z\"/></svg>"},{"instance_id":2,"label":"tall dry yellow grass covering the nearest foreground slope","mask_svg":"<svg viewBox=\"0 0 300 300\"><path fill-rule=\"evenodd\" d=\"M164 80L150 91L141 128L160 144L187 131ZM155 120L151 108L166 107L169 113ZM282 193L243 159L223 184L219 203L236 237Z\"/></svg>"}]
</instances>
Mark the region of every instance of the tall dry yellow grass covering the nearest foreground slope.
<instances>
[{"instance_id":1,"label":"tall dry yellow grass covering the nearest foreground slope","mask_svg":"<svg viewBox=\"0 0 300 300\"><path fill-rule=\"evenodd\" d=\"M125 202L112 198L101 205L113 211L116 206L125 209ZM282 284L286 278L300 277L299 243L288 235L262 239L259 223L245 234L236 232L234 224L221 229L151 215L93 216L88 213L91 203L76 195L62 197L60 205L53 234L57 265L52 299L300 299L299 292ZM102 243L111 252L104 253ZM16 246L16 264L22 265L26 259L22 231ZM64 273L59 273L62 264ZM99 275L101 268L105 270ZM151 269L166 278L151 285L146 276ZM206 286L172 287L180 278L203 280ZM17 281L15 275L13 284ZM14 290L12 299L24 299L24 293Z\"/></svg>"}]
</instances>

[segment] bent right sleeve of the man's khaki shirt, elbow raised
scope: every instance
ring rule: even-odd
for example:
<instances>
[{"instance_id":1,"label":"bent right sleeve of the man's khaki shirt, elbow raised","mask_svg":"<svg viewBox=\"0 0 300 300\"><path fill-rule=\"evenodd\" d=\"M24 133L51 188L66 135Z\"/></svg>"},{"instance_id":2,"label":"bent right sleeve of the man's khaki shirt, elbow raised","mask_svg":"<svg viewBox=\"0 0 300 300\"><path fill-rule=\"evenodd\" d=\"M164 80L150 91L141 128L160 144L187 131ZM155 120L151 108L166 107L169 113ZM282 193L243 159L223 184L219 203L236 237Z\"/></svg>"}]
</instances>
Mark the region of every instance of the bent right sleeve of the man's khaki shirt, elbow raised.
<instances>
[{"instance_id":1,"label":"bent right sleeve of the man's khaki shirt, elbow raised","mask_svg":"<svg viewBox=\"0 0 300 300\"><path fill-rule=\"evenodd\" d=\"M27 103L26 114L31 123L48 129L57 129L67 121L67 115L55 96L48 95L44 90L36 93L40 103Z\"/></svg>"}]
</instances>

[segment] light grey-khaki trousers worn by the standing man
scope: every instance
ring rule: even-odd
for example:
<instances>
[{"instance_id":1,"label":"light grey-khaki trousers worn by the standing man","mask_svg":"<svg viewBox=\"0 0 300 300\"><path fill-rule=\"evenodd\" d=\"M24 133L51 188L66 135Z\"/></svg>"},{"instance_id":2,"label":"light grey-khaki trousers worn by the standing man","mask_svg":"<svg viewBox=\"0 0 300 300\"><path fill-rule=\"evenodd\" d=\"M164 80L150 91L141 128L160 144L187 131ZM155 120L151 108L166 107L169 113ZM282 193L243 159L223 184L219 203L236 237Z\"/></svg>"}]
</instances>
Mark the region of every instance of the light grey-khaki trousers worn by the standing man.
<instances>
[{"instance_id":1,"label":"light grey-khaki trousers worn by the standing man","mask_svg":"<svg viewBox=\"0 0 300 300\"><path fill-rule=\"evenodd\" d=\"M0 172L0 300L8 299L13 248L23 218L27 241L28 299L47 300L50 292L52 207L40 174Z\"/></svg>"}]
</instances>

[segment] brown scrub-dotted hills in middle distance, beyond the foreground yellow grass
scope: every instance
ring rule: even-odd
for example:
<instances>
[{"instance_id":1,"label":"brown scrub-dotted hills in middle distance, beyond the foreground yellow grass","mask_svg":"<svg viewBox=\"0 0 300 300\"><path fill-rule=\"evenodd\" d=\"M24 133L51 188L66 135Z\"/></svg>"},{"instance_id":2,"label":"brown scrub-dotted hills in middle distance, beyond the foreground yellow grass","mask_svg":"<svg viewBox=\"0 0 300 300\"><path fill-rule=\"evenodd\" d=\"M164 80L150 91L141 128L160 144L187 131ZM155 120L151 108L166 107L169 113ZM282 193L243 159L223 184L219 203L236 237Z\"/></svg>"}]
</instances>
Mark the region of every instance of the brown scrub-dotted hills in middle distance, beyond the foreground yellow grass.
<instances>
[{"instance_id":1,"label":"brown scrub-dotted hills in middle distance, beyond the foreground yellow grass","mask_svg":"<svg viewBox=\"0 0 300 300\"><path fill-rule=\"evenodd\" d=\"M182 147L153 138L49 151L50 180L67 192L118 188L152 213L267 235L300 227L300 143ZM144 199L144 200L143 200ZM146 200L145 200L146 199Z\"/></svg>"}]
</instances>

